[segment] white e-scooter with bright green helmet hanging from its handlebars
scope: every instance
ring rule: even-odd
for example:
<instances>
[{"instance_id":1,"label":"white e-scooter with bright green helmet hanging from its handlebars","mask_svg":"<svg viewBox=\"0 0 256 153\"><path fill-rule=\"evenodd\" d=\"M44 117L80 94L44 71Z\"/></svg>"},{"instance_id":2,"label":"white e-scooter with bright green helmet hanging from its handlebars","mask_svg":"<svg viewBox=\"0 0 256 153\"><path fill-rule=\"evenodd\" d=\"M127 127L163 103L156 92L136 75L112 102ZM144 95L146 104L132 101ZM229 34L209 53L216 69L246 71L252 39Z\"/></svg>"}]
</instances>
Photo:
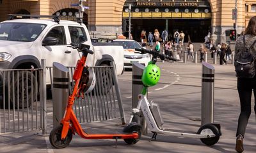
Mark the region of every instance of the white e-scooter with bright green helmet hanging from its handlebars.
<instances>
[{"instance_id":1,"label":"white e-scooter with bright green helmet hanging from its handlebars","mask_svg":"<svg viewBox=\"0 0 256 153\"><path fill-rule=\"evenodd\" d=\"M160 78L160 68L156 66L157 57L162 60L170 59L176 61L176 59L163 54L159 54L159 52L156 52L154 50L146 50L144 48L136 48L136 50L140 51L142 54L152 54L153 57L152 61L148 62L148 66L143 71L143 75L141 78L143 82L143 90L138 96L139 101L137 108L132 109L131 119L129 120L129 122L137 122L141 125L141 110L147 122L149 131L153 133L152 139L154 138L156 140L157 134L163 134L169 136L200 138L200 140L205 145L214 145L215 143L217 143L221 136L220 124L205 124L200 127L200 129L198 129L197 133L174 132L172 129L164 129L162 127L163 119L161 117L159 106L157 105L157 103L148 102L146 93L148 87L156 85Z\"/></svg>"}]
</instances>

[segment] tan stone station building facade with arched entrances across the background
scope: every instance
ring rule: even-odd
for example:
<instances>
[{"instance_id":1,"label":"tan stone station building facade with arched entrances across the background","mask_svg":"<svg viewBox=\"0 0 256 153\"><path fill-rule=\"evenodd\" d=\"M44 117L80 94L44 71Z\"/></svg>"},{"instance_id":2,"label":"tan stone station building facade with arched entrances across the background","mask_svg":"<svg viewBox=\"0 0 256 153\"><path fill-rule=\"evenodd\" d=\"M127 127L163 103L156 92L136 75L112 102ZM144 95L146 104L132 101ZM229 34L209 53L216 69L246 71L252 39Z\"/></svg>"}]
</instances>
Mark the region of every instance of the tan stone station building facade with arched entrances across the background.
<instances>
[{"instance_id":1,"label":"tan stone station building facade with arched entrances across the background","mask_svg":"<svg viewBox=\"0 0 256 153\"><path fill-rule=\"evenodd\" d=\"M72 20L79 7L78 0L0 0L0 21L10 13L31 15L62 15ZM214 41L229 41L235 20L232 10L236 0L87 0L84 24L91 31L127 34L129 4L131 4L132 36L140 39L142 30L173 34L183 31L193 42L204 42L208 31ZM255 0L237 0L237 34L244 31L250 17L256 15Z\"/></svg>"}]
</instances>

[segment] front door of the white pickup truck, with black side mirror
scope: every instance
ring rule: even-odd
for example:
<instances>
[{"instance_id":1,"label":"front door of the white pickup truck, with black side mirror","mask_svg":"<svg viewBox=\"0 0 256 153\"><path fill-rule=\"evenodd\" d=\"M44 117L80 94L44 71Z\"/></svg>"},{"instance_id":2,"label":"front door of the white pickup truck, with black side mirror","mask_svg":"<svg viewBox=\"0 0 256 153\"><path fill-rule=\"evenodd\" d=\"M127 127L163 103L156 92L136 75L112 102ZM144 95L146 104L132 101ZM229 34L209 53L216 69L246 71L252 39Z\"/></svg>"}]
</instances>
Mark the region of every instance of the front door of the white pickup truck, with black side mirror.
<instances>
[{"instance_id":1,"label":"front door of the white pickup truck, with black side mirror","mask_svg":"<svg viewBox=\"0 0 256 153\"><path fill-rule=\"evenodd\" d=\"M56 43L45 43L47 38L55 38ZM60 62L64 66L72 66L72 48L67 47L67 36L64 26L52 27L46 34L42 43L42 55L46 59L46 66L52 62Z\"/></svg>"}]
</instances>

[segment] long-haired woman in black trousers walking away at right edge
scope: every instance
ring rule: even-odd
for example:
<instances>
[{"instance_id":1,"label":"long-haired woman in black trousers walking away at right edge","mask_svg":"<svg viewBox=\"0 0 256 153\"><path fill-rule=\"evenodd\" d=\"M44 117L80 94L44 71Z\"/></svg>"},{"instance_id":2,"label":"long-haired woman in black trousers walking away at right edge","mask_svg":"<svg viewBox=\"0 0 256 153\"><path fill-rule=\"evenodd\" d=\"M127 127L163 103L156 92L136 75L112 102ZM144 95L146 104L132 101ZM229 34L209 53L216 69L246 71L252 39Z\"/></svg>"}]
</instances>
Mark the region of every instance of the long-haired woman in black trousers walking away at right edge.
<instances>
[{"instance_id":1,"label":"long-haired woman in black trousers walking away at right edge","mask_svg":"<svg viewBox=\"0 0 256 153\"><path fill-rule=\"evenodd\" d=\"M253 42L256 41L256 16L250 18L249 23L245 29L244 37L245 44L243 43L243 36L239 36L235 45L235 59L238 50L244 50L244 45L250 47ZM253 57L256 57L256 45L251 47L250 52L252 52ZM237 91L239 94L241 113L238 119L237 132L236 132L236 151L243 152L243 138L245 134L245 129L248 124L248 119L251 115L251 98L252 91L254 96L256 95L256 78L237 78ZM256 100L254 99L254 112L256 114Z\"/></svg>"}]
</instances>

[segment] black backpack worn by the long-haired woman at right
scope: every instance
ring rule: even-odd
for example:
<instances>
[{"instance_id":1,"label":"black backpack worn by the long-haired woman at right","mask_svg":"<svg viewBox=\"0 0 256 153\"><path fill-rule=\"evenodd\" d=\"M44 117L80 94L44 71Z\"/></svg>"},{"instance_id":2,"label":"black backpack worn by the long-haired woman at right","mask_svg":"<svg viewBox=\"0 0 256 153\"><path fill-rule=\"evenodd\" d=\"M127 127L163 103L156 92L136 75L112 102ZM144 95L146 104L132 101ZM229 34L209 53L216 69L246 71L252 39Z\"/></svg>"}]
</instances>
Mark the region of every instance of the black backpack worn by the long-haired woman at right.
<instances>
[{"instance_id":1,"label":"black backpack worn by the long-haired woman at right","mask_svg":"<svg viewBox=\"0 0 256 153\"><path fill-rule=\"evenodd\" d=\"M250 51L255 45L256 41L253 42L250 48L246 47L245 36L243 36L243 43L245 50L237 51L237 59L234 62L236 76L238 78L253 78L256 73L255 59Z\"/></svg>"}]
</instances>

